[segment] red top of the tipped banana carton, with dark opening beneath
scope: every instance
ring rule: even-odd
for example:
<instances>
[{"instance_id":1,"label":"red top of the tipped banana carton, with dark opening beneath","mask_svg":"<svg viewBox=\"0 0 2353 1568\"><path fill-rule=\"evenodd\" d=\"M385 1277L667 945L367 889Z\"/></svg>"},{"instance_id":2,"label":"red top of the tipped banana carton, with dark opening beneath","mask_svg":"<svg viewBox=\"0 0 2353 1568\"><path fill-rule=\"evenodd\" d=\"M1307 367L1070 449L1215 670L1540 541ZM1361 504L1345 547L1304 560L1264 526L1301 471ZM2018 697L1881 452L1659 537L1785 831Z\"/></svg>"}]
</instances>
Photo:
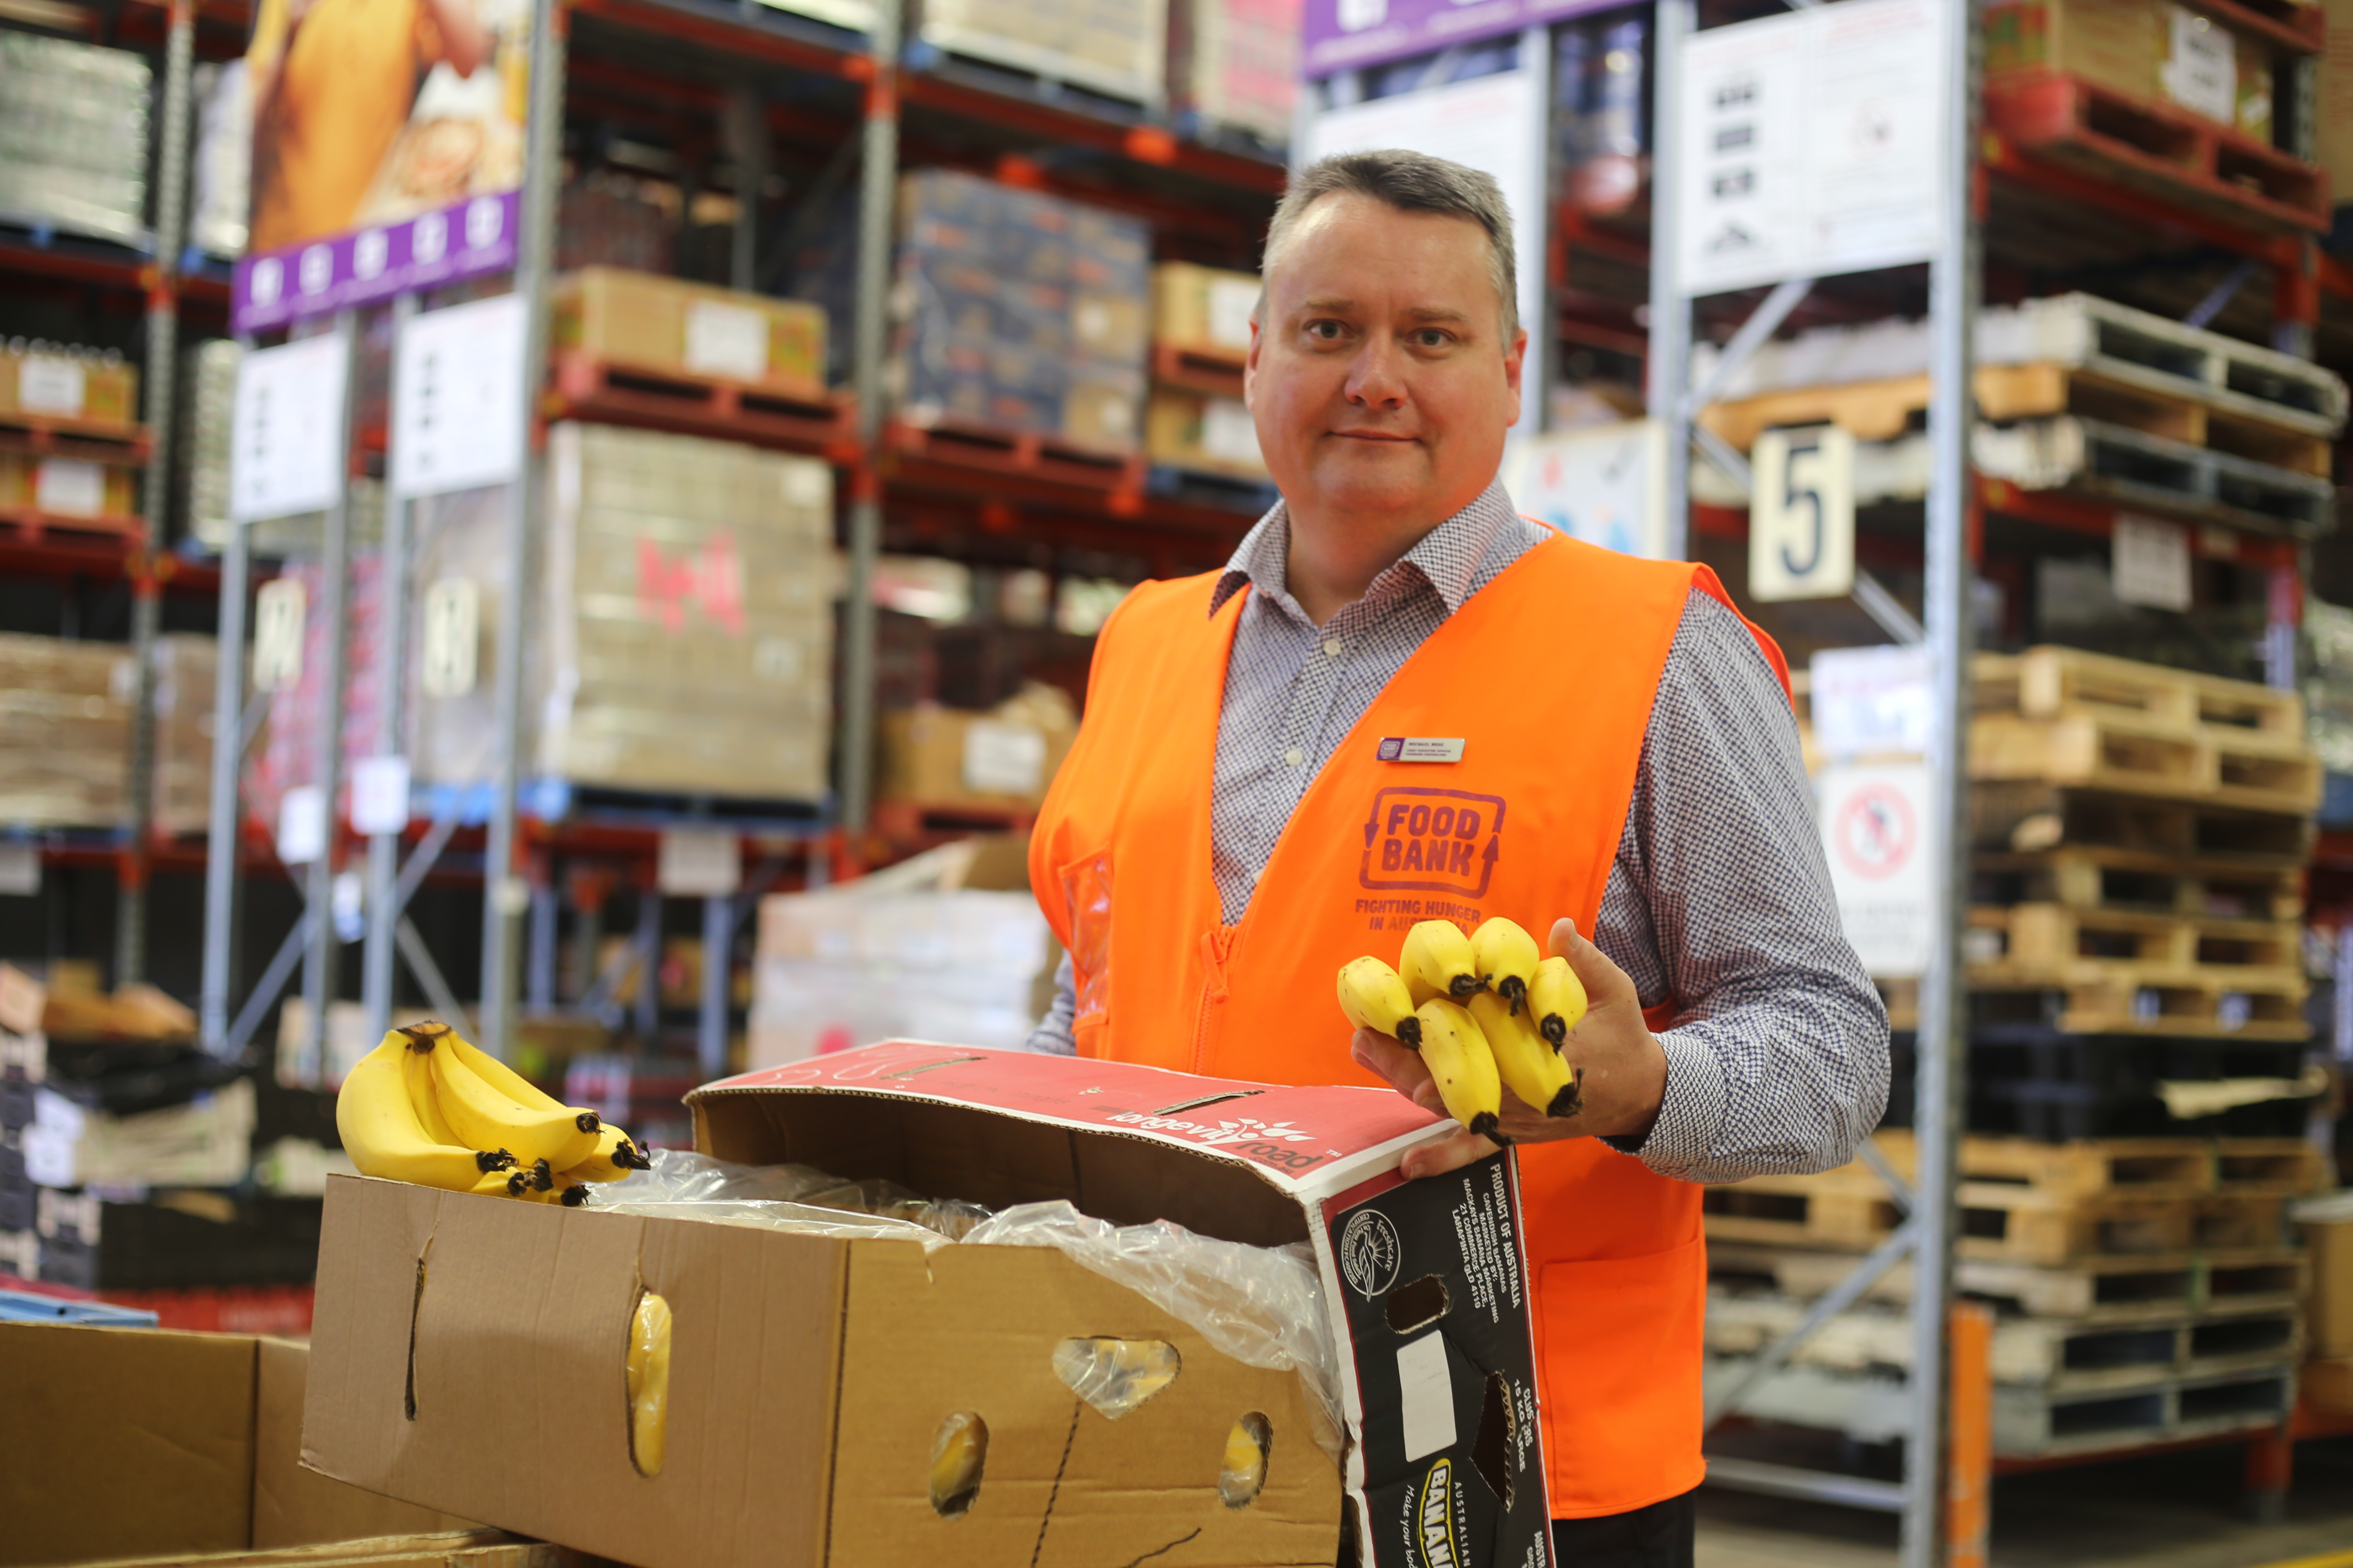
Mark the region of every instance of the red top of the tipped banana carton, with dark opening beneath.
<instances>
[{"instance_id":1,"label":"red top of the tipped banana carton, with dark opening beneath","mask_svg":"<svg viewBox=\"0 0 2353 1568\"><path fill-rule=\"evenodd\" d=\"M746 1072L687 1105L696 1147L720 1159L882 1175L993 1208L1068 1199L1257 1246L1304 1239L1301 1204L1452 1131L1388 1088L925 1041Z\"/></svg>"}]
</instances>

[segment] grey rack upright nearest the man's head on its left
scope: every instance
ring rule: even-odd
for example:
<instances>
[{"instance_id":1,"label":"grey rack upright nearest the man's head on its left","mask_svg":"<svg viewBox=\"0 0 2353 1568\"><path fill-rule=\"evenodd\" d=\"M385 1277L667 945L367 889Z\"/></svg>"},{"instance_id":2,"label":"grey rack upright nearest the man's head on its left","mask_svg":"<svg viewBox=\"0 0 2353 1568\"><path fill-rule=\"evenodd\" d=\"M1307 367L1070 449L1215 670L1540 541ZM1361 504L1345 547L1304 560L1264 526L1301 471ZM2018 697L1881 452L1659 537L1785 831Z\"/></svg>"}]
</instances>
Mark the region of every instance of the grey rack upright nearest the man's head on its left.
<instances>
[{"instance_id":1,"label":"grey rack upright nearest the man's head on its left","mask_svg":"<svg viewBox=\"0 0 2353 1568\"><path fill-rule=\"evenodd\" d=\"M882 331L899 212L899 5L875 0L873 78L866 82L866 155L859 169L859 306L852 339L859 463L849 477L849 581L842 621L840 820L864 835L873 809L875 555L882 550Z\"/></svg>"}]
</instances>

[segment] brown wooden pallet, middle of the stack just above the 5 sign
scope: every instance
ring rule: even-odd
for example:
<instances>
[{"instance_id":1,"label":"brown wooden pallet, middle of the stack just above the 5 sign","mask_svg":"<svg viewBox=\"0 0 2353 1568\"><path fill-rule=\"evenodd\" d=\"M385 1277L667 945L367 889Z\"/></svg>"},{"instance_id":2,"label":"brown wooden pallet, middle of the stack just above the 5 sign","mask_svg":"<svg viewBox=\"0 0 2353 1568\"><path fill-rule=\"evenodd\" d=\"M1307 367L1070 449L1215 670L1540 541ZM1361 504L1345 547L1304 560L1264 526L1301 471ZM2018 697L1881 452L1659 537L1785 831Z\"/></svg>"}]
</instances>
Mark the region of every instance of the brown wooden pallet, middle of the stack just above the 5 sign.
<instances>
[{"instance_id":1,"label":"brown wooden pallet, middle of the stack just above the 5 sign","mask_svg":"<svg viewBox=\"0 0 2353 1568\"><path fill-rule=\"evenodd\" d=\"M2184 447L2266 463L2301 475L2329 473L2329 437L2282 430L2275 423L2217 409L2205 397L2141 378L2075 364L1979 364L1972 376L1977 411L1995 423L2073 414L2122 430L2139 430ZM1857 440L1887 442L1927 414L1927 374L1788 388L1718 402L1699 421L1746 451L1772 425L1833 423Z\"/></svg>"}]
</instances>

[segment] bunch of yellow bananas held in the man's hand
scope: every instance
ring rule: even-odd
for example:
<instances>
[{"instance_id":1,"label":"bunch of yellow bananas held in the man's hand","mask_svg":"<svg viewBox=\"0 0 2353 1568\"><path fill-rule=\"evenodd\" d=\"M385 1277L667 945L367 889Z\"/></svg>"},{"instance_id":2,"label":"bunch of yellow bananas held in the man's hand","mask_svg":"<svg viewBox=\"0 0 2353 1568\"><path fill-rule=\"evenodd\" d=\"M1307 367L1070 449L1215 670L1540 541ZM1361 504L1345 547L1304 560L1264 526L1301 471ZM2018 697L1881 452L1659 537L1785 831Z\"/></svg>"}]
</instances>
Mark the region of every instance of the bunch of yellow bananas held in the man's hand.
<instances>
[{"instance_id":1,"label":"bunch of yellow bananas held in the man's hand","mask_svg":"<svg viewBox=\"0 0 2353 1568\"><path fill-rule=\"evenodd\" d=\"M1497 1133L1511 1086L1546 1117L1574 1117L1577 1070L1560 1044L1586 1016L1586 987L1567 959L1497 914L1471 936L1449 919L1405 933L1398 969L1367 954L1339 971L1339 1011L1421 1053L1447 1112L1473 1133Z\"/></svg>"}]
</instances>

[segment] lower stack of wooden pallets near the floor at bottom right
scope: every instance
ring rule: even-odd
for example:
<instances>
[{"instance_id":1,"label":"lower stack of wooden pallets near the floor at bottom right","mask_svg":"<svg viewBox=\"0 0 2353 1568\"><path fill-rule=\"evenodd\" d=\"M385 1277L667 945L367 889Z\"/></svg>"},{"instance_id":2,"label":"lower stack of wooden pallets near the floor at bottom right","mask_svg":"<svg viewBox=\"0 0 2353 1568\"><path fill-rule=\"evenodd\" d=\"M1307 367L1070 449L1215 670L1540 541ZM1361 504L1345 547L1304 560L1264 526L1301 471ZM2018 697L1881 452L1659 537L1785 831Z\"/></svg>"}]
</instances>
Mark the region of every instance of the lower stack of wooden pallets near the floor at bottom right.
<instances>
[{"instance_id":1,"label":"lower stack of wooden pallets near the floor at bottom right","mask_svg":"<svg viewBox=\"0 0 2353 1568\"><path fill-rule=\"evenodd\" d=\"M1908 1178L1913 1143L1880 1133ZM1993 1302L2002 1458L2104 1453L2278 1425L2304 1352L2304 1255L2287 1204L2322 1180L2297 1140L1965 1138L1955 1284ZM1901 1222L1868 1164L1706 1194L1708 1378L1751 1356ZM1904 1434L1911 1265L1833 1316L1744 1410Z\"/></svg>"}]
</instances>

